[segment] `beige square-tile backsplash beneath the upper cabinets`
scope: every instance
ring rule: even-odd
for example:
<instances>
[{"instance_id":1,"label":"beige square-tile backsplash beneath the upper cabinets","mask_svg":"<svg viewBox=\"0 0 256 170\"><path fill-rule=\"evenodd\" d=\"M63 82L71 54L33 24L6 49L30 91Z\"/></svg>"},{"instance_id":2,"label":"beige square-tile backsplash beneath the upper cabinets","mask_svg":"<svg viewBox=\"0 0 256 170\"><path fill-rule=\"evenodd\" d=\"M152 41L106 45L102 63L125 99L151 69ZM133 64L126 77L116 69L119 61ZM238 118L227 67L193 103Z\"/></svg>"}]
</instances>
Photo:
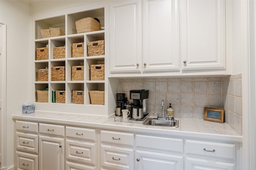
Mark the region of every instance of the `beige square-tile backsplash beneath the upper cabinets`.
<instances>
[{"instance_id":1,"label":"beige square-tile backsplash beneath the upper cabinets","mask_svg":"<svg viewBox=\"0 0 256 170\"><path fill-rule=\"evenodd\" d=\"M202 119L204 107L223 107L224 121L242 135L242 74L218 77L120 78L118 92L149 90L147 111L164 113L169 104L174 117ZM132 102L132 100L130 100Z\"/></svg>"}]
</instances>

